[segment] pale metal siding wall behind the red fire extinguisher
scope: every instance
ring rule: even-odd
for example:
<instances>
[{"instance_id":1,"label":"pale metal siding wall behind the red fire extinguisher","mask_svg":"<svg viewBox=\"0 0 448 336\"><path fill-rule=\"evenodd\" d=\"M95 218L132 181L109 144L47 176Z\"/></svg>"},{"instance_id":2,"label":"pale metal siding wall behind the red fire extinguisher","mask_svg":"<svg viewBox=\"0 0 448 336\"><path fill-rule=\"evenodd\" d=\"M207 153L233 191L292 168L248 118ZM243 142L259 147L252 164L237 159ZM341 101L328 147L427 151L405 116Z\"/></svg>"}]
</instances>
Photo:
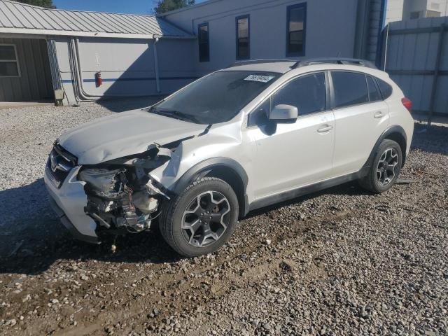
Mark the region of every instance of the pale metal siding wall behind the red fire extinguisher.
<instances>
[{"instance_id":1,"label":"pale metal siding wall behind the red fire extinguisher","mask_svg":"<svg viewBox=\"0 0 448 336\"><path fill-rule=\"evenodd\" d=\"M55 50L59 75L66 94L64 104L75 104L68 42L68 38L55 38ZM157 50L162 94L179 90L194 80L194 47L194 40L160 38ZM88 94L95 96L112 94L122 97L158 94L155 85L152 39L80 38L79 52L83 87ZM100 87L96 87L94 83L94 73L97 71L102 72L104 80ZM144 79L138 80L138 78Z\"/></svg>"}]
</instances>

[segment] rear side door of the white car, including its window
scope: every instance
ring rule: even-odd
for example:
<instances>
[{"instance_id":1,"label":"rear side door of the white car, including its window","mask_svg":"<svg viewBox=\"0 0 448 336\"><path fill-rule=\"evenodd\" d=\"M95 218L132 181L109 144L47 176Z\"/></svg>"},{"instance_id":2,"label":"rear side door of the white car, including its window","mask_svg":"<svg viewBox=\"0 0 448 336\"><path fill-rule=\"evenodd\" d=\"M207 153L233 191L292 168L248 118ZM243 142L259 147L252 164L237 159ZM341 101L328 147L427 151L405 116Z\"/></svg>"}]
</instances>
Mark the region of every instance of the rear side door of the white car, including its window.
<instances>
[{"instance_id":1,"label":"rear side door of the white car, including its window","mask_svg":"<svg viewBox=\"0 0 448 336\"><path fill-rule=\"evenodd\" d=\"M389 113L372 76L330 71L330 79L336 130L332 175L340 176L363 167L389 125Z\"/></svg>"}]
</instances>

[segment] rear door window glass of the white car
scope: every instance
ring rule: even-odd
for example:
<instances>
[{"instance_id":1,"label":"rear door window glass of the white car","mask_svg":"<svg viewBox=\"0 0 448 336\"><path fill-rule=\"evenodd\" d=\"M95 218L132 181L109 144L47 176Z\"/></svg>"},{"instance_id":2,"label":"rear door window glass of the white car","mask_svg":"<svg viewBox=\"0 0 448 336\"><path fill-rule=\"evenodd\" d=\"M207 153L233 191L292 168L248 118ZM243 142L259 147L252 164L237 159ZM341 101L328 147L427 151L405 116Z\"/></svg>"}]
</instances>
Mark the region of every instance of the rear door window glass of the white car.
<instances>
[{"instance_id":1,"label":"rear door window glass of the white car","mask_svg":"<svg viewBox=\"0 0 448 336\"><path fill-rule=\"evenodd\" d=\"M335 108L369 102L367 83L363 73L332 71Z\"/></svg>"}]
</instances>

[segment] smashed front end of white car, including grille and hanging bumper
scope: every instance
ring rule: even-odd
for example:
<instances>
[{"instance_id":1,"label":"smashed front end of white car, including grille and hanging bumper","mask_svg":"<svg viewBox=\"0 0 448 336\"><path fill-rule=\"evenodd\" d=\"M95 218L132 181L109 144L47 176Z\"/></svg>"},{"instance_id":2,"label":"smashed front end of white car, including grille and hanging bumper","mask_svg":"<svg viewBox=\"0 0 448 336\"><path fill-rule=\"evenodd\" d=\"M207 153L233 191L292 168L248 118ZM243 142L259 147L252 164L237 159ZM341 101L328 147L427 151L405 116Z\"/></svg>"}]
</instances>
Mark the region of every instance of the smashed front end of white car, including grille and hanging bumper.
<instances>
[{"instance_id":1,"label":"smashed front end of white car, including grille and hanging bumper","mask_svg":"<svg viewBox=\"0 0 448 336\"><path fill-rule=\"evenodd\" d=\"M55 144L44 175L50 205L74 237L93 244L106 235L148 230L160 202L170 198L149 172L167 162L171 151L151 145L139 155L82 166Z\"/></svg>"}]
</instances>

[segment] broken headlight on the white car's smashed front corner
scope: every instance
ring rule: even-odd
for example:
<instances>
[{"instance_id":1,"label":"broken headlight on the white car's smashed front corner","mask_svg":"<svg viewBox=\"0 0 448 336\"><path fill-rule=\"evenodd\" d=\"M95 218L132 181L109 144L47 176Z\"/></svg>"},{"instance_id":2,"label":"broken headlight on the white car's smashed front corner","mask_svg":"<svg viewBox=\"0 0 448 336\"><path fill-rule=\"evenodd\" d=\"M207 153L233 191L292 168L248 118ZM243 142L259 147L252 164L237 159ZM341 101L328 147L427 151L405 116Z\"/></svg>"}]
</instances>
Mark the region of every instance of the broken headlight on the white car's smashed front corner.
<instances>
[{"instance_id":1,"label":"broken headlight on the white car's smashed front corner","mask_svg":"<svg viewBox=\"0 0 448 336\"><path fill-rule=\"evenodd\" d=\"M125 169L85 169L79 173L78 179L86 182L98 196L115 198L123 192L123 172Z\"/></svg>"}]
</instances>

